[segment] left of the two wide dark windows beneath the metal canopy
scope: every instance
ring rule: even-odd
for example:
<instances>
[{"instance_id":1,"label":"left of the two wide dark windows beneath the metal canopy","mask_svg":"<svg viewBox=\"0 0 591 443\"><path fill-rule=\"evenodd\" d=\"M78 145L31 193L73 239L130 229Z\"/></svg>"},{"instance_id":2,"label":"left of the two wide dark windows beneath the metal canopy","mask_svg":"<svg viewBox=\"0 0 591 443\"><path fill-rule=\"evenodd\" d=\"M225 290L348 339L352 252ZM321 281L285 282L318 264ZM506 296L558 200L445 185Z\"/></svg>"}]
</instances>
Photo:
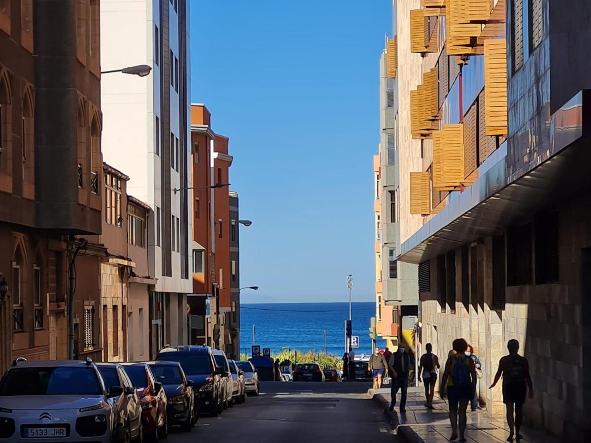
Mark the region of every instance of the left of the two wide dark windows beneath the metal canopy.
<instances>
[{"instance_id":1,"label":"left of the two wide dark windows beneath the metal canopy","mask_svg":"<svg viewBox=\"0 0 591 443\"><path fill-rule=\"evenodd\" d=\"M532 230L531 223L507 229L507 286L531 284Z\"/></svg>"}]
</instances>

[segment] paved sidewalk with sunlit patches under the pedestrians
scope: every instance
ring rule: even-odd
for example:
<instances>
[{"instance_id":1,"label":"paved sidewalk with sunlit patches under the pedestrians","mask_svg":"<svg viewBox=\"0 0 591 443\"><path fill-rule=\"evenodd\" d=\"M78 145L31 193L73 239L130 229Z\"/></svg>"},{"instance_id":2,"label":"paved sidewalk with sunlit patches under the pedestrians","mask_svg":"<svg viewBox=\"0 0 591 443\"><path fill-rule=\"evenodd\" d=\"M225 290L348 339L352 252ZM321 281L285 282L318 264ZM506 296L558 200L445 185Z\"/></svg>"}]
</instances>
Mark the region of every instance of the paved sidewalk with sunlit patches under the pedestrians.
<instances>
[{"instance_id":1,"label":"paved sidewalk with sunlit patches under the pedestrians","mask_svg":"<svg viewBox=\"0 0 591 443\"><path fill-rule=\"evenodd\" d=\"M389 389L370 389L375 399L382 404L390 403ZM423 387L408 387L406 413L400 413L400 393L398 403L391 412L392 427L396 428L406 441L443 443L449 441L452 434L452 426L449 424L447 403L435 395L433 406L435 409L429 411L424 406L425 393ZM413 432L408 432L409 430ZM557 443L557 438L550 437L542 432L535 431L523 426L521 435L523 443ZM466 439L469 443L502 443L509 437L509 427L504 418L489 418L486 411L467 411Z\"/></svg>"}]
</instances>

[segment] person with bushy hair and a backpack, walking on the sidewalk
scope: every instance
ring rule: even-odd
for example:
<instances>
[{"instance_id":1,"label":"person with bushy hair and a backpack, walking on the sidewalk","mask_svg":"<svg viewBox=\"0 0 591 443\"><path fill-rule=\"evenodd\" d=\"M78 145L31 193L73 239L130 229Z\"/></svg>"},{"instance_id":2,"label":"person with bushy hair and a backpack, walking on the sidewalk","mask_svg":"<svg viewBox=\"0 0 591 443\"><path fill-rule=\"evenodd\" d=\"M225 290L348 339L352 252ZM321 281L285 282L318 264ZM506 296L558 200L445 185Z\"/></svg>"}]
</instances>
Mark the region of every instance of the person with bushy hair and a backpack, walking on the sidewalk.
<instances>
[{"instance_id":1,"label":"person with bushy hair and a backpack, walking on the sidewalk","mask_svg":"<svg viewBox=\"0 0 591 443\"><path fill-rule=\"evenodd\" d=\"M466 356L468 344L463 338L456 338L453 341L454 354L448 357L439 391L441 398L446 396L449 399L449 421L452 424L452 437L450 441L458 437L458 422L460 430L460 441L466 441L464 432L466 431L466 409L468 403L474 396L476 389L476 367L474 361Z\"/></svg>"}]
</instances>

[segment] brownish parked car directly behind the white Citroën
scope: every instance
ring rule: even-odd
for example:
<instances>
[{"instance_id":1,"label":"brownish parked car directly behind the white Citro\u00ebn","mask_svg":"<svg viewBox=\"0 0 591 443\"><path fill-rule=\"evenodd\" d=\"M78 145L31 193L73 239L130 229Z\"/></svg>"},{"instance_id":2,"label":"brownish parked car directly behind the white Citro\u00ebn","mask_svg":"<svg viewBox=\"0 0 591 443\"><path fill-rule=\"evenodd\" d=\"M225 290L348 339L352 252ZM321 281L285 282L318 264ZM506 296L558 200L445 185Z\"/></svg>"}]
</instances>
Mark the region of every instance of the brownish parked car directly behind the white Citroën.
<instances>
[{"instance_id":1,"label":"brownish parked car directly behind the white Citro\u00ebn","mask_svg":"<svg viewBox=\"0 0 591 443\"><path fill-rule=\"evenodd\" d=\"M109 403L115 409L119 440L141 442L144 439L142 406L134 383L120 363L97 363L96 367L109 387Z\"/></svg>"}]
</instances>

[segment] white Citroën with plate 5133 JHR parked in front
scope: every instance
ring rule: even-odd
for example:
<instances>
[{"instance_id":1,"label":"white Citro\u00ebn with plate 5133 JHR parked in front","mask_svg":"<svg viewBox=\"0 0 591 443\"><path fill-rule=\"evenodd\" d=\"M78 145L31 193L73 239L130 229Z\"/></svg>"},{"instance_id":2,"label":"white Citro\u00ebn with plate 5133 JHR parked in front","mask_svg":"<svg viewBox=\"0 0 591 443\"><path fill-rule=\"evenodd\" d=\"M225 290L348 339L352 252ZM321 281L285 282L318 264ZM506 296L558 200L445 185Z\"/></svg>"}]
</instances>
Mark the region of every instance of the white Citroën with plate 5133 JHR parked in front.
<instances>
[{"instance_id":1,"label":"white Citro\u00ebn with plate 5133 JHR parked in front","mask_svg":"<svg viewBox=\"0 0 591 443\"><path fill-rule=\"evenodd\" d=\"M18 361L0 381L0 440L113 441L115 412L92 360Z\"/></svg>"}]
</instances>

